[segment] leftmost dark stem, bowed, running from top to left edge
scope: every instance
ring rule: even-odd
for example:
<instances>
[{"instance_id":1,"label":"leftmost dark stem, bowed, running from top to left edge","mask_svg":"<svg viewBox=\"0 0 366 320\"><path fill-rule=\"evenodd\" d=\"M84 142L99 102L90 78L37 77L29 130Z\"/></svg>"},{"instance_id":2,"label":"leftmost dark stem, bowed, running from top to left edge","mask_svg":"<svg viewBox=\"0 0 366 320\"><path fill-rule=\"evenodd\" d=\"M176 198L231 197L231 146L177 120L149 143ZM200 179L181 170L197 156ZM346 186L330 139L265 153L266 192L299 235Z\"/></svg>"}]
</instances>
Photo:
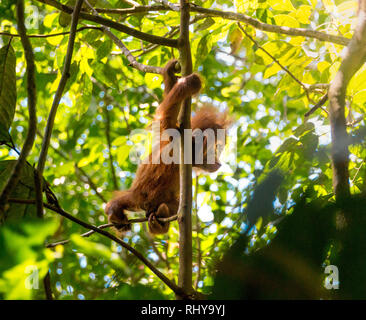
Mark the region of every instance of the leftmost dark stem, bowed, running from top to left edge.
<instances>
[{"instance_id":1,"label":"leftmost dark stem, bowed, running from top to left edge","mask_svg":"<svg viewBox=\"0 0 366 320\"><path fill-rule=\"evenodd\" d=\"M37 91L36 91L36 67L34 64L34 54L32 45L27 37L27 29L24 24L24 0L18 0L17 3L17 20L18 20L18 33L21 38L21 42L24 48L25 60L27 63L27 93L28 93L28 132L27 136L20 152L19 158L10 174L8 181L5 184L4 189L0 194L0 217L5 214L6 203L12 193L12 191L17 186L22 169L26 163L26 159L30 151L32 150L33 143L36 136L37 130ZM10 49L10 42L8 50Z\"/></svg>"}]
</instances>

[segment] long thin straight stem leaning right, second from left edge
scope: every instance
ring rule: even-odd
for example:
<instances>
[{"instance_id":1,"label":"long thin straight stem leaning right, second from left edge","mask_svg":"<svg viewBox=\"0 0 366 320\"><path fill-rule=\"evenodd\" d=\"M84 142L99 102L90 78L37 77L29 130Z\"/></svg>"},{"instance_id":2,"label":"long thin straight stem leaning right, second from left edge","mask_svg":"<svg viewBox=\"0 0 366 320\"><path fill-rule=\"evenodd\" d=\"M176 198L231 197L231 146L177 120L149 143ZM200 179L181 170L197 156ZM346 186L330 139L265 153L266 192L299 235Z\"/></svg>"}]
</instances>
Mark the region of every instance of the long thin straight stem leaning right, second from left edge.
<instances>
[{"instance_id":1,"label":"long thin straight stem leaning right, second from left edge","mask_svg":"<svg viewBox=\"0 0 366 320\"><path fill-rule=\"evenodd\" d=\"M42 184L41 185L37 185L37 184L42 181L43 170L44 170L45 163L46 163L47 152L48 152L48 148L49 148L50 141L51 141L51 135L52 135L53 125L55 122L58 105L60 103L63 91L65 89L66 82L70 77L69 72L70 72L70 66L71 66L71 59L72 59L72 53L74 50L76 29L77 29L77 25L78 25L78 21L79 21L79 14L80 14L82 5L83 5L83 0L77 0L77 2L75 4L75 9L72 14L70 36L69 36L69 42L68 42L68 46L67 46L64 69L62 71L60 83L56 90L56 94L55 94L55 97L54 97L54 100L52 103L51 111L48 115L45 134L44 134L43 141L42 141L41 153L39 155L39 160L38 160L38 164L37 164L38 179L36 179L36 197L37 197L37 212L39 215L43 214ZM37 183L37 180L38 180L38 183Z\"/></svg>"}]
</instances>

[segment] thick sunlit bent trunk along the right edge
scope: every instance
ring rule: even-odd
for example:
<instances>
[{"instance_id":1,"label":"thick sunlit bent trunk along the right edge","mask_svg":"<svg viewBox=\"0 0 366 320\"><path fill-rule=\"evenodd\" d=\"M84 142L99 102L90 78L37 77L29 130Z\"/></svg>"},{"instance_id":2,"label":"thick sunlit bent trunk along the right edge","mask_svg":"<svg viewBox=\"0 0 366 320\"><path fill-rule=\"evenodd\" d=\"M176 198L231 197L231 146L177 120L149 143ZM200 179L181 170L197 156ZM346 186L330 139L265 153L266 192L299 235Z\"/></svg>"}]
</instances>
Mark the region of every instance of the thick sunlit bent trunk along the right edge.
<instances>
[{"instance_id":1,"label":"thick sunlit bent trunk along the right edge","mask_svg":"<svg viewBox=\"0 0 366 320\"><path fill-rule=\"evenodd\" d=\"M366 0L359 0L358 22L342 63L330 84L329 114L332 137L333 188L337 199L349 196L348 135L345 96L349 81L366 61Z\"/></svg>"}]
</instances>

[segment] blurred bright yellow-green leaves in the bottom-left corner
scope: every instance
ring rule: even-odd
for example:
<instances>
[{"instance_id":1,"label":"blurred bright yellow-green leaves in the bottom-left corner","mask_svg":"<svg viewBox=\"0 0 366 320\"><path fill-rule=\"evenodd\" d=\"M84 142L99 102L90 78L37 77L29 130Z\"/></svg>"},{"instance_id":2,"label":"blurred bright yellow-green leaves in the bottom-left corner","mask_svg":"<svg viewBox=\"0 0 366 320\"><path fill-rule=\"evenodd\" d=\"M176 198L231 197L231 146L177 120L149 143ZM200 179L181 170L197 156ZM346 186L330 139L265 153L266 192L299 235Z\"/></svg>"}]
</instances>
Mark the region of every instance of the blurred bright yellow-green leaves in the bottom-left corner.
<instances>
[{"instance_id":1,"label":"blurred bright yellow-green leaves in the bottom-left corner","mask_svg":"<svg viewBox=\"0 0 366 320\"><path fill-rule=\"evenodd\" d=\"M5 299L30 299L39 289L53 260L44 243L57 227L56 219L39 218L7 221L1 227L0 293Z\"/></svg>"}]
</instances>

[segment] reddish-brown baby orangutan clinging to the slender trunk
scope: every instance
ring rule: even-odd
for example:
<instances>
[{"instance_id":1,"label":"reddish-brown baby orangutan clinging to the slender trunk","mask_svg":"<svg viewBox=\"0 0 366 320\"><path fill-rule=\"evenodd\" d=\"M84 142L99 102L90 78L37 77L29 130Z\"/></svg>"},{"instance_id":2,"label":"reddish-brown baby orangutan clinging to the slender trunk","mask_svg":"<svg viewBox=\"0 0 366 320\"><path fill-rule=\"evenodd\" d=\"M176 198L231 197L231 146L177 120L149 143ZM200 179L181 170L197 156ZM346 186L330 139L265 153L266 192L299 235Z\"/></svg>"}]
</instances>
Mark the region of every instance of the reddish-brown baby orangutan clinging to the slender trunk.
<instances>
[{"instance_id":1,"label":"reddish-brown baby orangutan clinging to the slender trunk","mask_svg":"<svg viewBox=\"0 0 366 320\"><path fill-rule=\"evenodd\" d=\"M158 107L155 121L160 122L161 133L167 129L178 129L177 117L183 100L199 92L201 89L200 77L193 73L187 77L178 79L179 72L177 60L171 60L163 69L164 76L164 100ZM192 150L195 148L194 130L212 129L217 136L218 129L226 129L229 124L227 113L220 113L214 107L203 107L191 120L193 139ZM158 157L169 141L160 141ZM214 143L214 148L216 148ZM192 166L208 172L214 172L220 167L215 157L214 163L207 161L208 143L207 137L203 138L200 152L203 153L203 162L195 163L193 155ZM197 151L196 151L197 152ZM155 155L154 155L155 157ZM179 205L179 164L152 163L152 154L149 155L148 163L141 163L137 169L135 180L130 189L116 192L115 197L108 202L105 212L108 220L113 223L117 230L123 232L131 229L124 210L146 212L148 217L149 231L152 234L166 233L169 222L161 222L157 219L171 217L177 214ZM196 161L197 162L197 161Z\"/></svg>"}]
</instances>

